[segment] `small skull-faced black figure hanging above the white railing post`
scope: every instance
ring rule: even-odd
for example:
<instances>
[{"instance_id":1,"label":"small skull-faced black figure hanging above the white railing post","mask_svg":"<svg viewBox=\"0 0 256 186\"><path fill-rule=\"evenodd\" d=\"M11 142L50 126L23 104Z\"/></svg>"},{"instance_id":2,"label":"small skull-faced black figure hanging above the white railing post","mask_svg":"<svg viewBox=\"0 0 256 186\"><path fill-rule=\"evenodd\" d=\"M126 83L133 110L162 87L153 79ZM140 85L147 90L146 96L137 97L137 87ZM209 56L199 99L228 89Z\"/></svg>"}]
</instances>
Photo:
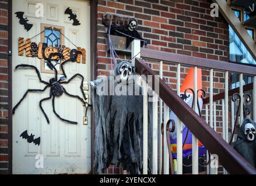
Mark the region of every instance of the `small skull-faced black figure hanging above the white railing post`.
<instances>
[{"instance_id":1,"label":"small skull-faced black figure hanging above the white railing post","mask_svg":"<svg viewBox=\"0 0 256 186\"><path fill-rule=\"evenodd\" d=\"M136 19L132 19L128 25L122 25L122 26L111 25L110 34L126 37L127 38L126 48L129 47L129 45L131 44L132 41L134 41L135 38L138 40L141 40L141 47L143 47L144 45L146 46L147 43L136 30L137 27L138 27L138 22L136 21Z\"/></svg>"}]
</instances>

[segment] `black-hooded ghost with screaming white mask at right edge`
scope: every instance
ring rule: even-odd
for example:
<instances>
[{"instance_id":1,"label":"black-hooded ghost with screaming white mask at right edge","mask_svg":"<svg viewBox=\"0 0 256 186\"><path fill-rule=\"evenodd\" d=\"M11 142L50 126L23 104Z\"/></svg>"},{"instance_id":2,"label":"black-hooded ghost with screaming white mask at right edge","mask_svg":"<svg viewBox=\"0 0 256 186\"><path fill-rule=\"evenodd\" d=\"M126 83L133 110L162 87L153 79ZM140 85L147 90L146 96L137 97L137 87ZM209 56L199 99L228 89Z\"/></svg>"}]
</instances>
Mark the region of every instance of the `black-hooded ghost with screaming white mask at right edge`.
<instances>
[{"instance_id":1,"label":"black-hooded ghost with screaming white mask at right edge","mask_svg":"<svg viewBox=\"0 0 256 186\"><path fill-rule=\"evenodd\" d=\"M232 143L233 148L240 153L252 166L256 168L256 123L251 119L244 119L239 128L237 141Z\"/></svg>"}]
</instances>

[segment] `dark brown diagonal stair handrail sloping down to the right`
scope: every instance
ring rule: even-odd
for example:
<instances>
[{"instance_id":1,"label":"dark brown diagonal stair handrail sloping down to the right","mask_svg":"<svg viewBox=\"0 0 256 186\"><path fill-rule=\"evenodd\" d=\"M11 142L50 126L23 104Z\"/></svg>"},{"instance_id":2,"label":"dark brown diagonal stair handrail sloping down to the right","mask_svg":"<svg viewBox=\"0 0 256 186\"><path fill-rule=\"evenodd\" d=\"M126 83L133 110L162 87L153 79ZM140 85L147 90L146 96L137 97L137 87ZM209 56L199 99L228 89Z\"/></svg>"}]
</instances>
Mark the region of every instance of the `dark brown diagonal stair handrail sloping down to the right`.
<instances>
[{"instance_id":1,"label":"dark brown diagonal stair handrail sloping down to the right","mask_svg":"<svg viewBox=\"0 0 256 186\"><path fill-rule=\"evenodd\" d=\"M219 162L231 174L256 174L256 170L248 163L232 146L227 144L201 117L188 106L183 99L173 91L169 85L164 83L156 74L143 62L142 59L135 59L136 72L146 78L152 75L152 82L148 82L155 90L155 82L159 84L159 96L167 106L183 121L188 129L198 138L212 154L219 156ZM150 78L149 78L150 80Z\"/></svg>"}]
</instances>

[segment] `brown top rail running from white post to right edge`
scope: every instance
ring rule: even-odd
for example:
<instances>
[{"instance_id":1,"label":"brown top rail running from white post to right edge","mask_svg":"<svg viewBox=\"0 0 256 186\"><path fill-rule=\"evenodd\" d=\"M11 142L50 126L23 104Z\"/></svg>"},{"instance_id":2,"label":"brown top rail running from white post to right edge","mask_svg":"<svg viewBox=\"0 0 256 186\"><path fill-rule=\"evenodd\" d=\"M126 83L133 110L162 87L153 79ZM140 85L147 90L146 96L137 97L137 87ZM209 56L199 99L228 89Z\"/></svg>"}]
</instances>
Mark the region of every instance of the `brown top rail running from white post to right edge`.
<instances>
[{"instance_id":1,"label":"brown top rail running from white post to right edge","mask_svg":"<svg viewBox=\"0 0 256 186\"><path fill-rule=\"evenodd\" d=\"M163 60L171 63L181 63L185 66L198 66L204 69L217 69L220 71L232 71L234 73L244 73L256 75L256 67L243 63L229 63L221 60L198 58L178 53L155 51L153 49L141 48L141 58L150 60Z\"/></svg>"}]
</instances>

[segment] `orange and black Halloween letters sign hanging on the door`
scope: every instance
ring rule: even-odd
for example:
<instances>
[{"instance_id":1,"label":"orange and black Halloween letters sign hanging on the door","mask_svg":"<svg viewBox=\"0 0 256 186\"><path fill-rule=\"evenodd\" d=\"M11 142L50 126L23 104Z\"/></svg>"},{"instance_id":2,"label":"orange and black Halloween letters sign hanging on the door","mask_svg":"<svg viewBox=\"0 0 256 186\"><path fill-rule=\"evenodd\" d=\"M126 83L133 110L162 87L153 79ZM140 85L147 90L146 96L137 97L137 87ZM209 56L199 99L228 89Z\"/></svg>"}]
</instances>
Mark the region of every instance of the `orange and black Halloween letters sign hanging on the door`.
<instances>
[{"instance_id":1,"label":"orange and black Halloween letters sign hanging on the door","mask_svg":"<svg viewBox=\"0 0 256 186\"><path fill-rule=\"evenodd\" d=\"M44 42L39 42L37 45L36 42L31 42L30 38L27 38L24 41L23 37L19 37L19 56L24 55L24 51L26 53L27 57L37 57L39 59L48 59L50 53L62 53L64 56L64 59L60 60L68 60L71 58L71 51L80 51L82 54L78 54L76 58L77 63L86 63L86 51L84 48L78 47L77 49L70 49L68 47L65 47L65 45L58 45L55 47L49 46L47 47L47 44ZM81 58L82 56L82 58ZM59 60L59 56L52 56L52 60Z\"/></svg>"}]
</instances>

